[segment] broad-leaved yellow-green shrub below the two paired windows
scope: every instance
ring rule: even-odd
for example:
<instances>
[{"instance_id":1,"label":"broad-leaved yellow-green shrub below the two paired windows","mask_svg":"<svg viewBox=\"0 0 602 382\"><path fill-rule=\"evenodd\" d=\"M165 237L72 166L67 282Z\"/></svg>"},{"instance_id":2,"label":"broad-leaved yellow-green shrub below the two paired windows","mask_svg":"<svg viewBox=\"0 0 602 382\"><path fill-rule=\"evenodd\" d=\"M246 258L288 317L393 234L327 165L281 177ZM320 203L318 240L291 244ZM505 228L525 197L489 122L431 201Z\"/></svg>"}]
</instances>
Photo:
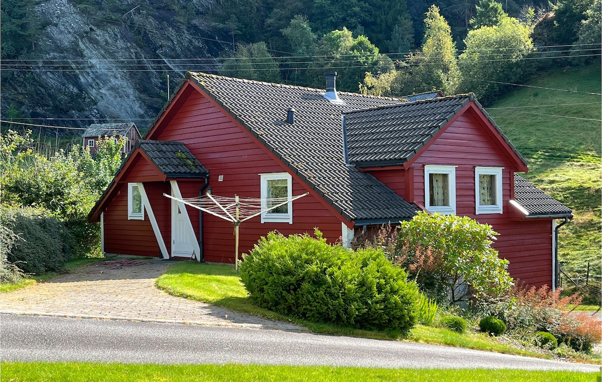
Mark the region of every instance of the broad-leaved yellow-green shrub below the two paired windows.
<instances>
[{"instance_id":1,"label":"broad-leaved yellow-green shrub below the two paired windows","mask_svg":"<svg viewBox=\"0 0 602 382\"><path fill-rule=\"evenodd\" d=\"M400 226L396 262L439 303L504 293L512 277L508 261L491 248L495 235L469 217L421 211Z\"/></svg>"}]
</instances>

